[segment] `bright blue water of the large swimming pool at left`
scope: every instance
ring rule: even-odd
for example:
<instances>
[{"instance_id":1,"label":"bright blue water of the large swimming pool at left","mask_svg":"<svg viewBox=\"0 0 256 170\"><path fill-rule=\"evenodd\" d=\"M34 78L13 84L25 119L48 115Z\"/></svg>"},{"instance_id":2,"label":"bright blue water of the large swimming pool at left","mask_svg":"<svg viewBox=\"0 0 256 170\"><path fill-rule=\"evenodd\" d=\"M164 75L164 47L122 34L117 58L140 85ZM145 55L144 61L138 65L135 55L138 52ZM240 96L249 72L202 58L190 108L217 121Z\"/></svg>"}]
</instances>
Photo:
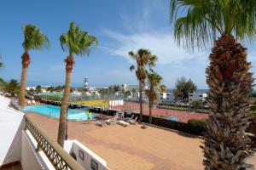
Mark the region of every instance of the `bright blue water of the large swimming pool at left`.
<instances>
[{"instance_id":1,"label":"bright blue water of the large swimming pool at left","mask_svg":"<svg viewBox=\"0 0 256 170\"><path fill-rule=\"evenodd\" d=\"M34 112L44 116L50 116L59 118L61 107L55 105L32 105L26 106L23 109L27 112ZM73 121L86 121L87 120L87 110L84 108L81 109L68 109L67 119ZM91 119L94 119L94 115L91 114Z\"/></svg>"}]
</instances>

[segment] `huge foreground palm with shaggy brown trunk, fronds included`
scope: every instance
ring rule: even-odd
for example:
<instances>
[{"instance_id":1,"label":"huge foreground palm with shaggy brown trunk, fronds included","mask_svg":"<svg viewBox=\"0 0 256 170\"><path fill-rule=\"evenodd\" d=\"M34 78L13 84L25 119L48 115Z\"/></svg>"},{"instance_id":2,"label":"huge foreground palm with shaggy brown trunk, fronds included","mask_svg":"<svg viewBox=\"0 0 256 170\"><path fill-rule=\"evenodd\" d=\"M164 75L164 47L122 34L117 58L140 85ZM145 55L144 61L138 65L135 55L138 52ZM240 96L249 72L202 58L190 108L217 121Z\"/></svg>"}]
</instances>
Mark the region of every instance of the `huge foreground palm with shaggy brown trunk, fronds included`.
<instances>
[{"instance_id":1,"label":"huge foreground palm with shaggy brown trunk, fronds included","mask_svg":"<svg viewBox=\"0 0 256 170\"><path fill-rule=\"evenodd\" d=\"M172 0L173 20L177 43L187 49L202 49L214 40L207 67L210 113L202 146L205 169L251 167L245 162L253 154L245 131L249 126L253 74L249 72L247 49L236 39L253 38L256 1Z\"/></svg>"}]
</instances>

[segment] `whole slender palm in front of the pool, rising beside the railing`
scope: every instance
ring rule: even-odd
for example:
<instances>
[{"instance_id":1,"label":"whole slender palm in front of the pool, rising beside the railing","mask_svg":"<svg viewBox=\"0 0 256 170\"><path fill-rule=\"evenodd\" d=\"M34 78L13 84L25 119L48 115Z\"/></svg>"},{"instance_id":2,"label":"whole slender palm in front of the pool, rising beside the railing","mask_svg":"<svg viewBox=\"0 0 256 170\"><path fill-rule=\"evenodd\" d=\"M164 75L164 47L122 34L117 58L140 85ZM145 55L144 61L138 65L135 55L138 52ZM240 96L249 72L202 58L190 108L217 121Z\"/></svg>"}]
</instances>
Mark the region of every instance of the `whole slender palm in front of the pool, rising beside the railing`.
<instances>
[{"instance_id":1,"label":"whole slender palm in front of the pool, rising beside the railing","mask_svg":"<svg viewBox=\"0 0 256 170\"><path fill-rule=\"evenodd\" d=\"M61 48L63 51L68 50L69 54L65 59L66 62L66 83L64 95L61 101L61 115L59 122L58 143L63 147L66 129L66 112L68 95L70 93L71 74L73 70L74 58L73 54L84 55L90 54L91 49L97 45L96 37L90 36L86 31L83 31L73 22L70 23L69 31L63 33L60 37Z\"/></svg>"}]
</instances>

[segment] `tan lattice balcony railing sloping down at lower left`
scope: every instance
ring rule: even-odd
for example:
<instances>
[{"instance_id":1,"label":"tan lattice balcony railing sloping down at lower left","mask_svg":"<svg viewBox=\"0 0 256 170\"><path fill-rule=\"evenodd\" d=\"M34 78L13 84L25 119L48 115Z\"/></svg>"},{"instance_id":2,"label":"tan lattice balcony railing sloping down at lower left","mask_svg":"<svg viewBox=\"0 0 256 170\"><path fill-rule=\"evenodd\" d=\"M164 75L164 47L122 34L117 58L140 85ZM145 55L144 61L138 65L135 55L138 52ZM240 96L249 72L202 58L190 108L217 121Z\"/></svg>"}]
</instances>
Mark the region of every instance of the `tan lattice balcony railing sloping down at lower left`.
<instances>
[{"instance_id":1,"label":"tan lattice balcony railing sloping down at lower left","mask_svg":"<svg viewBox=\"0 0 256 170\"><path fill-rule=\"evenodd\" d=\"M26 116L26 129L32 133L32 136L38 142L37 150L43 150L49 161L58 170L84 170L79 162L75 161L61 145L51 139L41 127L35 123L30 116Z\"/></svg>"}]
</instances>

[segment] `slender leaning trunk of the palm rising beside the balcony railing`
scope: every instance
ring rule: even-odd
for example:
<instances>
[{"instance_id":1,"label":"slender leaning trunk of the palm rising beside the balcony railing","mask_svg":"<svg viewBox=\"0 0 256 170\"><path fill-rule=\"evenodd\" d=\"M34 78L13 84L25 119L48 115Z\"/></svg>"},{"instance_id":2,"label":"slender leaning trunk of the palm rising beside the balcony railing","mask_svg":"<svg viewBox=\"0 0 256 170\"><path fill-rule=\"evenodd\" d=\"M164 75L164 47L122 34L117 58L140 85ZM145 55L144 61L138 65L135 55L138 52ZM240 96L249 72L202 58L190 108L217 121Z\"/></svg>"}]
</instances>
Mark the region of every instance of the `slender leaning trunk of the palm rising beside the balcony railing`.
<instances>
[{"instance_id":1,"label":"slender leaning trunk of the palm rising beside the balcony railing","mask_svg":"<svg viewBox=\"0 0 256 170\"><path fill-rule=\"evenodd\" d=\"M59 122L59 132L58 132L58 143L63 147L64 140L66 135L66 116L67 116L67 104L68 104L68 96L70 93L70 84L71 84L71 76L73 70L73 56L68 56L65 60L67 62L66 65L66 82L64 88L64 95L61 100L61 114L60 114L60 122Z\"/></svg>"}]
</instances>

